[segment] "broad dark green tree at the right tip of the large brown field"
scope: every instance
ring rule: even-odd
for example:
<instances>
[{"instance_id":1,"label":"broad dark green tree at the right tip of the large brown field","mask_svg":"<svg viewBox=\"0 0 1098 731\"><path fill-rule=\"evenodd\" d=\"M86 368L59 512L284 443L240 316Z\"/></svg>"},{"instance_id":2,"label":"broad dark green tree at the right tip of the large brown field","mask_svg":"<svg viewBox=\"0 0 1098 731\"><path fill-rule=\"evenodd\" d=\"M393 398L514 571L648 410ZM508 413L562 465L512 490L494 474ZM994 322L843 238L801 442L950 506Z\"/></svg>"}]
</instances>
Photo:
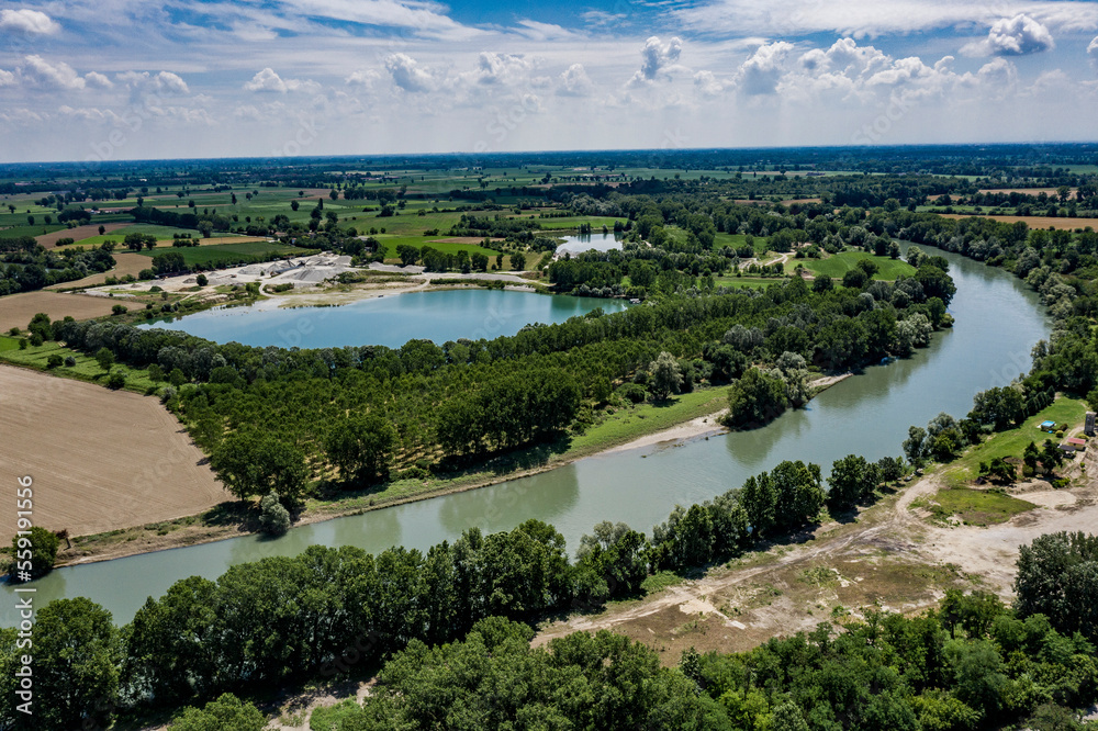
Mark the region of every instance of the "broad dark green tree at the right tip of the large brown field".
<instances>
[{"instance_id":1,"label":"broad dark green tree at the right tip of the large brown field","mask_svg":"<svg viewBox=\"0 0 1098 731\"><path fill-rule=\"evenodd\" d=\"M242 501L273 491L283 503L293 503L309 479L300 449L255 431L234 431L225 437L210 456L210 466Z\"/></svg>"}]
</instances>

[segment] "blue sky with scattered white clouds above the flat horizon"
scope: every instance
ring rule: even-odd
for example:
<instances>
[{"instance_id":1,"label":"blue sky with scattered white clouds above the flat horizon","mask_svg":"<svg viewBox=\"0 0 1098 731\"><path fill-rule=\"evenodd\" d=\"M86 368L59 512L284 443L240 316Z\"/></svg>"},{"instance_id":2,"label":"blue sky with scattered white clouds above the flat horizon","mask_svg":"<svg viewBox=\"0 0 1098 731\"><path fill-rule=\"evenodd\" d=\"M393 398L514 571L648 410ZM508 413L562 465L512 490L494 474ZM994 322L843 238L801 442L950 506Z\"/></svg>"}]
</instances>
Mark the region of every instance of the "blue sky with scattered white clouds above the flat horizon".
<instances>
[{"instance_id":1,"label":"blue sky with scattered white clouds above the flat horizon","mask_svg":"<svg viewBox=\"0 0 1098 731\"><path fill-rule=\"evenodd\" d=\"M1094 140L1098 2L0 2L0 161Z\"/></svg>"}]
</instances>

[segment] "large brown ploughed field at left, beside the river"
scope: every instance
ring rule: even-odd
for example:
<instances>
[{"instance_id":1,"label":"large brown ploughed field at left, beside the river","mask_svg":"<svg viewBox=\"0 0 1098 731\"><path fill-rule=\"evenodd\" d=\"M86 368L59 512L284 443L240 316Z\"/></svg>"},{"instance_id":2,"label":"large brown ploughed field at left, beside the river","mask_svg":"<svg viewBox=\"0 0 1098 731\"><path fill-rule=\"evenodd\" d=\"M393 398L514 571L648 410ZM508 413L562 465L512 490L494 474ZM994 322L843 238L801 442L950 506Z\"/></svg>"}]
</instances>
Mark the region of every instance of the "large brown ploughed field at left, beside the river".
<instances>
[{"instance_id":1,"label":"large brown ploughed field at left, beside the river","mask_svg":"<svg viewBox=\"0 0 1098 731\"><path fill-rule=\"evenodd\" d=\"M34 522L51 530L103 532L232 499L153 397L0 366L0 434L5 472L34 479ZM13 532L0 526L0 543Z\"/></svg>"}]
</instances>

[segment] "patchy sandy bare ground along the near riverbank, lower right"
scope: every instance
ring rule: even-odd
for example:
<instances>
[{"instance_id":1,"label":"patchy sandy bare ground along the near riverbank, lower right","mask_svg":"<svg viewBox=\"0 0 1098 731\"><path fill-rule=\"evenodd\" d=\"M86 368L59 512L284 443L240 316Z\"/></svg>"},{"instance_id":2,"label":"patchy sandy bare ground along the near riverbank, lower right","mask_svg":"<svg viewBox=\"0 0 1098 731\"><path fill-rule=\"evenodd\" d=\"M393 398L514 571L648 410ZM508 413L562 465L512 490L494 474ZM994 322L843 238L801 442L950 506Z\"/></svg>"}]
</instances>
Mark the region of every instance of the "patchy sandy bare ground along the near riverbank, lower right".
<instances>
[{"instance_id":1,"label":"patchy sandy bare ground along the near riverbank, lower right","mask_svg":"<svg viewBox=\"0 0 1098 731\"><path fill-rule=\"evenodd\" d=\"M1098 463L1088 471L1098 473ZM552 622L535 643L609 629L656 649L671 665L690 646L748 650L873 608L918 611L950 587L978 587L1009 599L1020 546L1043 533L1094 531L1098 525L1098 486L1082 476L1067 490L1018 486L1039 507L987 528L938 526L926 510L911 509L943 486L931 475L863 509L856 522L826 524L645 599Z\"/></svg>"}]
</instances>

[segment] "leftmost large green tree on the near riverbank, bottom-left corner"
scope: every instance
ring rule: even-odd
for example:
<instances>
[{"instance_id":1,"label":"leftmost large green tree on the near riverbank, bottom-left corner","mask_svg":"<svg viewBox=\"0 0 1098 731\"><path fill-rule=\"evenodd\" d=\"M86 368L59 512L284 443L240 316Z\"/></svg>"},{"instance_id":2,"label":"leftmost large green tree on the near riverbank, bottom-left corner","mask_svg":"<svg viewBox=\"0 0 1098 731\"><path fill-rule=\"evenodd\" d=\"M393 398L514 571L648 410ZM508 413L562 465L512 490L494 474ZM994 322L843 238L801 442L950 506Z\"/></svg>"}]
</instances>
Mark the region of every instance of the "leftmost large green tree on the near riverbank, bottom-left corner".
<instances>
[{"instance_id":1,"label":"leftmost large green tree on the near riverbank, bottom-left corner","mask_svg":"<svg viewBox=\"0 0 1098 731\"><path fill-rule=\"evenodd\" d=\"M111 612L85 597L55 599L34 627L31 728L107 728L119 701L119 631Z\"/></svg>"}]
</instances>

